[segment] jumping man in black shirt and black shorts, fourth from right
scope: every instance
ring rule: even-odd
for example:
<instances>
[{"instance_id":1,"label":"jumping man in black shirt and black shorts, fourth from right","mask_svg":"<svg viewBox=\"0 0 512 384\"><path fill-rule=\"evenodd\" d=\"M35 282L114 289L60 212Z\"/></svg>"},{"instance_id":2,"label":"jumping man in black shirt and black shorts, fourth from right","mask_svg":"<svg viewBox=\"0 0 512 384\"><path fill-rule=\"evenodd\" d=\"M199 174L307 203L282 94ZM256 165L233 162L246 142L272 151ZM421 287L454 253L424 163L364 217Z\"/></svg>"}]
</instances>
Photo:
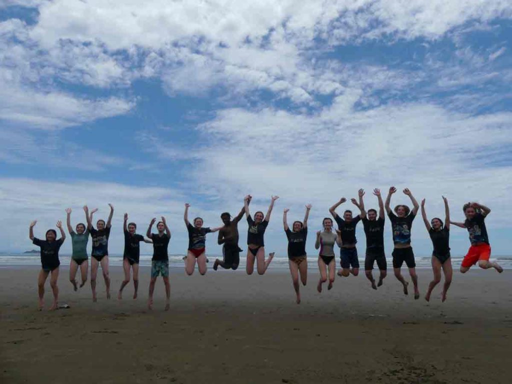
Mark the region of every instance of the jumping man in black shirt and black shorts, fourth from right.
<instances>
[{"instance_id":1,"label":"jumping man in black shirt and black shorts, fourth from right","mask_svg":"<svg viewBox=\"0 0 512 384\"><path fill-rule=\"evenodd\" d=\"M365 191L359 193L359 205L361 210L361 221L365 228L366 234L366 255L365 255L365 274L373 289L377 289L382 285L382 281L386 277L388 263L386 262L386 253L384 251L384 203L382 202L382 196L380 196L380 190L375 188L373 194L377 196L379 203L379 215L377 218L377 211L375 209L365 210L365 202L362 197L365 195ZM377 262L377 267L380 271L379 281L375 285L373 279L373 265Z\"/></svg>"}]
</instances>

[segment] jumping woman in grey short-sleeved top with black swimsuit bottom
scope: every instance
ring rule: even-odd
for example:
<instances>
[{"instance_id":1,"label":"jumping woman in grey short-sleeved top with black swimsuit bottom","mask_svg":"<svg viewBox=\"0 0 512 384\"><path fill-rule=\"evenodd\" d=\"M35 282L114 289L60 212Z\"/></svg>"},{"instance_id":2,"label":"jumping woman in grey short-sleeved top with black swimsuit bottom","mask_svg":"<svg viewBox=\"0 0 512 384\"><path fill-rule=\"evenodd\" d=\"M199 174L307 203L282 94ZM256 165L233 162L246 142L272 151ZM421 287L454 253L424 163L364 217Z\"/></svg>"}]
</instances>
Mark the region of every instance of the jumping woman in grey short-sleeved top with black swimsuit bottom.
<instances>
[{"instance_id":1,"label":"jumping woman in grey short-sleeved top with black swimsuit bottom","mask_svg":"<svg viewBox=\"0 0 512 384\"><path fill-rule=\"evenodd\" d=\"M332 284L334 283L334 275L336 272L336 260L334 253L334 243L338 245L338 247L342 246L342 237L341 232L338 230L337 233L332 231L332 219L325 218L322 221L322 226L324 230L316 232L316 242L315 249L320 249L318 254L318 269L320 270L320 280L318 280L318 285L316 289L318 292L322 292L322 284L327 281L328 273L329 273L329 285L327 289L332 288ZM329 272L327 269L329 268Z\"/></svg>"}]
</instances>

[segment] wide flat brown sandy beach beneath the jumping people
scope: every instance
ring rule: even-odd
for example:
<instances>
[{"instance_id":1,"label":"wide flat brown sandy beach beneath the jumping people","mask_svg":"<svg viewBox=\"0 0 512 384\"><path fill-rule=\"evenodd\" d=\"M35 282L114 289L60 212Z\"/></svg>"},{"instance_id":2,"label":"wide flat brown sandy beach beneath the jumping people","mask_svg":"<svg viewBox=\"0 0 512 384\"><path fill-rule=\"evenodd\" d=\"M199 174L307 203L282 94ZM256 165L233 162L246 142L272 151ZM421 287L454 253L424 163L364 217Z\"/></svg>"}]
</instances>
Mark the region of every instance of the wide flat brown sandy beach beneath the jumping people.
<instances>
[{"instance_id":1,"label":"wide flat brown sandy beach beneath the jumping people","mask_svg":"<svg viewBox=\"0 0 512 384\"><path fill-rule=\"evenodd\" d=\"M211 268L211 263L209 264ZM456 269L456 268L454 268ZM148 267L123 300L122 269L112 266L112 300L101 274L98 302L89 282L73 292L61 266L60 304L36 310L39 268L0 269L2 383L505 383L512 364L512 274L475 268L454 273L445 303L441 284L418 271L415 301L390 275L377 291L363 274L316 291L310 269L295 304L289 272L260 276L171 268L171 309L161 279L147 310ZM403 269L406 272L406 269ZM377 271L374 270L374 276ZM404 274L405 275L405 274ZM410 280L406 275L407 280ZM45 302L52 301L49 281Z\"/></svg>"}]
</instances>

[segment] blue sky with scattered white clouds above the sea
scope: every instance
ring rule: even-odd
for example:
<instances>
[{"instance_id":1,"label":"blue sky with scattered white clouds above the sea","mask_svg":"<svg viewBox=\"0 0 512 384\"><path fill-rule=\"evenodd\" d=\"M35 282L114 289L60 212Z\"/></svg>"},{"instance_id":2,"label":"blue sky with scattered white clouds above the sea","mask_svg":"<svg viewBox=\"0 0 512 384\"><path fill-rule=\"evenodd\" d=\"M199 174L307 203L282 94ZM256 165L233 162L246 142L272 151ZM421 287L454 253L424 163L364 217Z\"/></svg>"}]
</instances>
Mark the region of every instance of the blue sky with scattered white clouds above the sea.
<instances>
[{"instance_id":1,"label":"blue sky with scattered white clouds above the sea","mask_svg":"<svg viewBox=\"0 0 512 384\"><path fill-rule=\"evenodd\" d=\"M182 253L185 202L216 227L251 194L251 212L280 196L265 242L283 256L283 209L291 224L311 203L316 254L332 204L394 185L429 218L442 195L456 221L489 206L510 254L511 41L508 0L0 0L0 251L32 249L31 220L42 237L67 207L75 225L112 203L111 253L124 212L139 233L165 216ZM432 252L420 216L412 241ZM452 254L468 245L453 228Z\"/></svg>"}]
</instances>

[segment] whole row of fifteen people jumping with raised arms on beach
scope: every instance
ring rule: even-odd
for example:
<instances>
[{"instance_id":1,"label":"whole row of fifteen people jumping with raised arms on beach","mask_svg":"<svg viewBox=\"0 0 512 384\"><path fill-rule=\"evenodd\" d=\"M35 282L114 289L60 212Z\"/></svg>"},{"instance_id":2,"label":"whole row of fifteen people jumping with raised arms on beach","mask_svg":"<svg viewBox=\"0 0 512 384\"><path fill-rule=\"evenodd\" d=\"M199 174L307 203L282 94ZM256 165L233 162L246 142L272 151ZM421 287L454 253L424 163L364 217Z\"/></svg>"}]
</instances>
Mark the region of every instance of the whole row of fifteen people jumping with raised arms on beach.
<instances>
[{"instance_id":1,"label":"whole row of fifteen people jumping with raised arms on beach","mask_svg":"<svg viewBox=\"0 0 512 384\"><path fill-rule=\"evenodd\" d=\"M315 248L319 249L318 254L318 269L320 278L317 284L318 292L322 292L324 283L327 283L327 289L331 289L334 284L336 275L336 262L334 247L337 245L340 248L340 267L338 276L347 277L351 274L357 276L359 273L359 259L357 257L355 236L355 229L357 223L362 221L366 234L366 253L365 253L365 274L371 283L373 289L381 286L387 274L386 254L384 250L384 226L385 226L385 211L391 221L393 232L393 271L397 280L402 284L403 293L408 294L409 283L403 278L401 274L401 267L406 263L411 280L414 285L414 298L418 299L420 294L418 290L418 278L416 275L416 263L414 259L414 252L411 246L411 228L420 205L413 197L411 191L406 188L403 193L411 199L413 208L410 209L407 205L397 205L393 210L390 207L391 197L396 193L395 187L390 187L386 202L382 201L380 190L375 188L373 194L377 197L379 210L365 209L364 196L365 191L359 189L359 199L351 199L351 202L359 209L359 214L353 216L351 210L346 209L343 218L338 216L336 208L347 201L342 198L329 208L329 212L336 221L337 229L333 229L333 221L331 218L324 218L322 221L323 230L316 232ZM214 270L220 266L224 269L236 270L240 263L240 252L242 249L239 246L239 232L238 223L242 217L246 216L248 223L247 230L247 274L252 274L254 271L254 264L259 274L264 274L268 269L274 252L270 252L268 257L265 258L265 243L264 234L267 225L270 221L270 216L274 203L278 196L272 196L270 206L268 207L266 215L262 211L254 213L254 218L251 217L249 212L249 204L252 197L250 195L244 198L244 206L239 214L232 218L228 212L221 214L223 226L217 228L209 228L203 226L203 219L197 217L191 224L188 220L188 208L190 205L185 204L185 212L183 219L188 231L188 250L185 259L185 271L188 275L194 273L196 263L199 273L204 275L206 273L206 258L205 244L206 234L210 232L219 232L218 244L223 245L223 259L216 259L213 265ZM434 272L434 279L430 282L428 291L425 294L425 300L430 301L430 296L434 287L441 280L441 270L444 273L444 286L442 290L442 301L446 300L446 292L452 282L452 262L450 259L450 224L456 225L461 228L466 228L469 232L471 246L465 255L460 271L465 273L473 265L477 264L480 268L488 269L495 268L498 272L503 269L497 262L491 262L490 258L490 245L485 227L485 217L489 214L490 209L478 203L466 203L463 206L465 215L464 222L453 222L450 219L450 208L448 201L443 197L445 207L444 223L439 218L428 220L425 212L425 200L421 201L421 215L425 224L426 230L430 234L433 244L432 252L432 269ZM108 220L98 220L96 228L93 227L93 215L98 209L89 211L87 206L83 207L86 215L86 224L77 224L75 230L71 225L71 208L66 209L67 213L67 227L71 236L73 253L71 257L69 280L73 285L74 290L78 290L78 283L76 281L76 274L80 269L81 284L83 287L88 278L89 258L87 253L87 244L89 236L92 238L92 252L91 252L91 289L93 301L97 301L96 293L96 278L98 267L101 265L103 272L103 279L106 288L106 297L110 299L110 276L109 276L109 251L108 242L111 231L112 217L114 215L114 207L110 206L110 215ZM288 238L288 259L293 288L296 294L296 303L301 302L300 282L303 285L307 283L307 255L306 255L306 239L308 232L308 217L311 210L311 205L306 205L306 214L304 221L294 221L292 228L288 226L287 214L289 209L284 210L283 226ZM124 287L130 282L131 275L133 275L134 294L133 298L137 298L138 294L138 275L139 275L139 255L140 255L140 242L153 244L153 258L151 264L151 281L149 287L148 308L153 307L153 292L155 283L159 275L162 276L166 302L165 310L169 309L170 299L170 284L169 284L169 259L167 248L170 241L171 233L162 217L161 221L157 223L157 233L152 232L153 225L156 218L153 218L147 228L146 236L136 233L137 225L133 222L128 222L128 214L124 214L123 231L124 231L124 253L123 253L123 270L124 280L118 291L118 299L122 299L122 292ZM44 306L44 293L45 282L50 275L50 285L53 291L53 305L50 309L58 308L58 286L57 279L59 275L59 257L58 252L62 243L66 239L66 233L62 229L60 221L57 222L57 228L60 230L61 237L57 239L57 232L54 229L49 229L46 232L46 240L40 240L34 237L33 227L36 221L30 224L29 237L33 244L40 247L41 254L41 270L38 276L38 291L39 303L38 308L41 310ZM379 269L378 282L375 282L372 274L375 262Z\"/></svg>"}]
</instances>

